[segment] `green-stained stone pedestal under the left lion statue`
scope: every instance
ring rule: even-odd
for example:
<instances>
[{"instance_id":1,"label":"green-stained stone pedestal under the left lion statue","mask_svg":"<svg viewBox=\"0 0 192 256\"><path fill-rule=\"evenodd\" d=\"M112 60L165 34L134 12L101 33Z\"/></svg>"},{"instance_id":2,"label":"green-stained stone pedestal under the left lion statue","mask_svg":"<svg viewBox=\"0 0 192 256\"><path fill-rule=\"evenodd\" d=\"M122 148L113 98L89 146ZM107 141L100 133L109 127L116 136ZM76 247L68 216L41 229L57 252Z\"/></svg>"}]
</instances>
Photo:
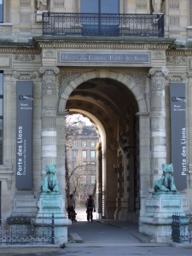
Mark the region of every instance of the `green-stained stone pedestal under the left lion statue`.
<instances>
[{"instance_id":1,"label":"green-stained stone pedestal under the left lion statue","mask_svg":"<svg viewBox=\"0 0 192 256\"><path fill-rule=\"evenodd\" d=\"M61 193L41 193L38 200L38 213L33 224L50 226L54 222L55 244L67 242L67 226L72 224L66 217L64 201Z\"/></svg>"}]
</instances>

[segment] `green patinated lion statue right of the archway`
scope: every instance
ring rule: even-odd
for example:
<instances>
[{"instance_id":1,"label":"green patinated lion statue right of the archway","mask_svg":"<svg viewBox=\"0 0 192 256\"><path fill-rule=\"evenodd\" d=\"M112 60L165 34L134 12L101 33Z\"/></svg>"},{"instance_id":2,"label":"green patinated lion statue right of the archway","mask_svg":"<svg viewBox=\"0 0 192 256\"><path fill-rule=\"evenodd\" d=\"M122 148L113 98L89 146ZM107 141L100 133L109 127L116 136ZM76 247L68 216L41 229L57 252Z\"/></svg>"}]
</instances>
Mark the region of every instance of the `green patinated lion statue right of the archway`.
<instances>
[{"instance_id":1,"label":"green patinated lion statue right of the archway","mask_svg":"<svg viewBox=\"0 0 192 256\"><path fill-rule=\"evenodd\" d=\"M174 177L172 176L173 174L172 164L170 165L162 164L162 170L163 170L163 173L160 179L157 179L154 181L154 191L155 192L157 191L176 192L177 189L175 186Z\"/></svg>"}]
</instances>

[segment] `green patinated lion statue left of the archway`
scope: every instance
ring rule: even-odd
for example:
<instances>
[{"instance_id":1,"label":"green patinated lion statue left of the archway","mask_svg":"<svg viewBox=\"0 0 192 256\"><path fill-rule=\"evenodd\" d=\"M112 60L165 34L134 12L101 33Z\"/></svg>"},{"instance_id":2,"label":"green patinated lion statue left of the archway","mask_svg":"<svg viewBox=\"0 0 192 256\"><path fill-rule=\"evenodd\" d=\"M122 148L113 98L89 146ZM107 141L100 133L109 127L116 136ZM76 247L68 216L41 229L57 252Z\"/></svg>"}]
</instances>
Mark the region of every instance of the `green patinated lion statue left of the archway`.
<instances>
[{"instance_id":1,"label":"green patinated lion statue left of the archway","mask_svg":"<svg viewBox=\"0 0 192 256\"><path fill-rule=\"evenodd\" d=\"M56 177L56 165L45 166L46 175L41 183L42 192L59 192L59 184Z\"/></svg>"}]
</instances>

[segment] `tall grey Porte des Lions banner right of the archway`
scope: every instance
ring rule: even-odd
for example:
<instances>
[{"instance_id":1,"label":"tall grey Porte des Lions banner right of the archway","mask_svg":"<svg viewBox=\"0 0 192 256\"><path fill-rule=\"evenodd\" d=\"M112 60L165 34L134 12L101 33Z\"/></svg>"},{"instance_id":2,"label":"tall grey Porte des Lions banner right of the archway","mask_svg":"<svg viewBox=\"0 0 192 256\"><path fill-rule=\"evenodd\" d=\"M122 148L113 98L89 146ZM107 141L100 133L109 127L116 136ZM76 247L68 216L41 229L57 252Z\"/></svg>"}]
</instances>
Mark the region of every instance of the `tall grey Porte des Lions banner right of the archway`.
<instances>
[{"instance_id":1,"label":"tall grey Porte des Lions banner right of the archway","mask_svg":"<svg viewBox=\"0 0 192 256\"><path fill-rule=\"evenodd\" d=\"M170 83L171 144L174 179L177 189L187 188L185 84Z\"/></svg>"}]
</instances>

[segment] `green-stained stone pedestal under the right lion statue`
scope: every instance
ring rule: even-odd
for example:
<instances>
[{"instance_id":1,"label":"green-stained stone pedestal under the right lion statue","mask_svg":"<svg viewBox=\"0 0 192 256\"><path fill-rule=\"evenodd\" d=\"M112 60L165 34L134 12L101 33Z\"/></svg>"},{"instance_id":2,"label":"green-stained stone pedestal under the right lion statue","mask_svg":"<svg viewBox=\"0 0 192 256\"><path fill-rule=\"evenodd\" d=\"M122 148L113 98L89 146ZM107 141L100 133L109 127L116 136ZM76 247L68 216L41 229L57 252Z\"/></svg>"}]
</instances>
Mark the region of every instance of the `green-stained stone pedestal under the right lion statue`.
<instances>
[{"instance_id":1,"label":"green-stained stone pedestal under the right lion statue","mask_svg":"<svg viewBox=\"0 0 192 256\"><path fill-rule=\"evenodd\" d=\"M172 215L184 216L182 195L177 192L153 192L146 201L146 214L140 218L140 232L166 242L172 237Z\"/></svg>"}]
</instances>

